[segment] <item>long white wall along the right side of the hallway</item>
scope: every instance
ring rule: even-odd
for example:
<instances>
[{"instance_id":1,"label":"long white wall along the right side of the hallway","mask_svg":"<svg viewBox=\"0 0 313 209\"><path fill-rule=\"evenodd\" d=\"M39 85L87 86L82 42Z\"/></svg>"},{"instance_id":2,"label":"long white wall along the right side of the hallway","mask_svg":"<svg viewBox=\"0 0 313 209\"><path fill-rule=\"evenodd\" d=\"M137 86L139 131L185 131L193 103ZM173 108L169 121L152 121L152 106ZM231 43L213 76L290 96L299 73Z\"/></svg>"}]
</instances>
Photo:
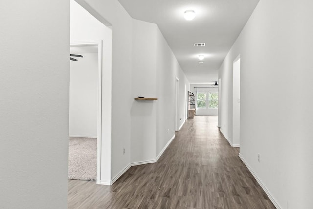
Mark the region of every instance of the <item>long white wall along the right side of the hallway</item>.
<instances>
[{"instance_id":1,"label":"long white wall along the right side of the hallway","mask_svg":"<svg viewBox=\"0 0 313 209\"><path fill-rule=\"evenodd\" d=\"M232 65L240 54L240 155L283 209L313 205L311 8L309 0L261 0L219 71L221 125L231 139Z\"/></svg>"}]
</instances>

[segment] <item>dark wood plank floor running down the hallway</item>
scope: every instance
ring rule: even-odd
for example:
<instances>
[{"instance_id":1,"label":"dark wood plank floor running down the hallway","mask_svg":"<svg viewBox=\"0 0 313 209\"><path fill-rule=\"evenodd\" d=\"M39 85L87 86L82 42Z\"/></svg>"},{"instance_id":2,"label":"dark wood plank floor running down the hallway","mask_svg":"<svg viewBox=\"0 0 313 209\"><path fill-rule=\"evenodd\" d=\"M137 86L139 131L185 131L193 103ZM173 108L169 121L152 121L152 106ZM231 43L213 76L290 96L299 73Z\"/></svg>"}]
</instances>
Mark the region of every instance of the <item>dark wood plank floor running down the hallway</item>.
<instances>
[{"instance_id":1,"label":"dark wood plank floor running down the hallway","mask_svg":"<svg viewBox=\"0 0 313 209\"><path fill-rule=\"evenodd\" d=\"M69 209L275 209L217 128L188 119L157 163L131 167L112 186L69 180Z\"/></svg>"}]
</instances>

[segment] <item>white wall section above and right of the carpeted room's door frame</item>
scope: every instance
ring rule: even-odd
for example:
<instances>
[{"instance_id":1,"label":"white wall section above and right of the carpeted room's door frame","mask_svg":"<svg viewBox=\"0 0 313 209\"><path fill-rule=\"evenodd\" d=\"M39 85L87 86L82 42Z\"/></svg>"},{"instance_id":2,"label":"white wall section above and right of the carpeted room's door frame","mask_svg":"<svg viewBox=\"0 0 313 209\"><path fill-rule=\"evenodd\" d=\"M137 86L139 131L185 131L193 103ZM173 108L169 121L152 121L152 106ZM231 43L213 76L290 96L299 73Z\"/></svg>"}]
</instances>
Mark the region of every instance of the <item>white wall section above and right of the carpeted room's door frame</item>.
<instances>
[{"instance_id":1,"label":"white wall section above and right of the carpeted room's door frame","mask_svg":"<svg viewBox=\"0 0 313 209\"><path fill-rule=\"evenodd\" d=\"M111 111L112 111L112 30L89 14L74 0L70 1L70 41L102 40L102 130L101 182L111 180ZM77 64L81 62L81 58ZM82 60L83 61L83 60ZM122 151L121 151L122 152Z\"/></svg>"}]
</instances>

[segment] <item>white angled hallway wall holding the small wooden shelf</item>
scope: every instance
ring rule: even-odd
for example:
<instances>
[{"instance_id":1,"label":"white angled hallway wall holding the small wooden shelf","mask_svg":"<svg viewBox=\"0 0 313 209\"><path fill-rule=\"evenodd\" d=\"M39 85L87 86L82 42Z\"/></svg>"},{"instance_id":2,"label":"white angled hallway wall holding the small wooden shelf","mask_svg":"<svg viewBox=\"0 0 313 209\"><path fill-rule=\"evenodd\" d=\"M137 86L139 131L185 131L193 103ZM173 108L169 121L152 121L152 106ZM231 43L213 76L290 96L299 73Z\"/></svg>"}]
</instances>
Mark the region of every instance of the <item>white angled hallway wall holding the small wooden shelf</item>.
<instances>
[{"instance_id":1,"label":"white angled hallway wall holding the small wooden shelf","mask_svg":"<svg viewBox=\"0 0 313 209\"><path fill-rule=\"evenodd\" d=\"M186 106L184 88L185 84L189 86L189 83L155 24L133 20L117 0L77 0L77 2L84 5L84 8L99 20L112 25L111 179L115 180L130 166L130 163L151 160L154 152L147 151L154 146L156 146L157 156L174 136L175 75L181 79L179 80L179 89L181 89L179 118L184 118ZM152 37L140 36L141 32ZM133 37L133 33L139 37ZM139 41L145 43L154 39L156 42L152 43L152 46L143 46L139 43ZM139 79L140 77L147 80ZM145 103L134 101L134 97L139 96L138 94L144 94L144 97L157 97L158 100ZM143 108L142 112L139 111L140 108ZM154 117L156 117L155 127ZM182 119L179 125L183 122ZM156 137L154 135L148 137L150 131L156 132ZM155 145L150 144L154 137ZM125 154L123 154L124 148Z\"/></svg>"}]
</instances>

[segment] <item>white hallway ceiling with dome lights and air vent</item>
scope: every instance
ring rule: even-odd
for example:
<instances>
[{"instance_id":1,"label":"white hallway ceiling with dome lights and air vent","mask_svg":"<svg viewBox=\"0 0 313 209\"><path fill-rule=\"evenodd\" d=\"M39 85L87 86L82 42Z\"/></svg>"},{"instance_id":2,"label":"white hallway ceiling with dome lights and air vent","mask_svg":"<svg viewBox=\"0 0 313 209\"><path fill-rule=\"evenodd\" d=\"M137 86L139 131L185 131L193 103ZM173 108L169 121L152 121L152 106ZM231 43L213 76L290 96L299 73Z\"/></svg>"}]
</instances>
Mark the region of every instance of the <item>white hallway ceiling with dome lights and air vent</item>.
<instances>
[{"instance_id":1,"label":"white hallway ceiling with dome lights and air vent","mask_svg":"<svg viewBox=\"0 0 313 209\"><path fill-rule=\"evenodd\" d=\"M190 83L218 80L218 69L259 0L118 0L132 18L156 23ZM186 10L195 19L187 21ZM193 46L206 43L206 46ZM205 55L204 64L198 55Z\"/></svg>"}]
</instances>

